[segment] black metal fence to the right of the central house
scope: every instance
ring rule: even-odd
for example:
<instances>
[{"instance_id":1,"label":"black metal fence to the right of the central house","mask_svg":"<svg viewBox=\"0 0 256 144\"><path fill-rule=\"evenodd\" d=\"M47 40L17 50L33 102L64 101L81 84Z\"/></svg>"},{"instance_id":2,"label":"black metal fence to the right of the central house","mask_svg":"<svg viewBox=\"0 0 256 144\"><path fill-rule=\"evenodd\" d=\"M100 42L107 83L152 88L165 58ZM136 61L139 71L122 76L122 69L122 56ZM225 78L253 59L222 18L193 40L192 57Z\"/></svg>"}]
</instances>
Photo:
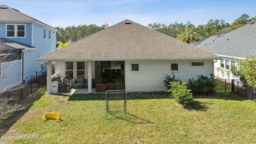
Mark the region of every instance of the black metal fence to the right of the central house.
<instances>
[{"instance_id":1,"label":"black metal fence to the right of the central house","mask_svg":"<svg viewBox=\"0 0 256 144\"><path fill-rule=\"evenodd\" d=\"M248 98L256 102L256 88L248 84L243 84L239 80L218 80L216 92L233 92L243 98Z\"/></svg>"}]
</instances>

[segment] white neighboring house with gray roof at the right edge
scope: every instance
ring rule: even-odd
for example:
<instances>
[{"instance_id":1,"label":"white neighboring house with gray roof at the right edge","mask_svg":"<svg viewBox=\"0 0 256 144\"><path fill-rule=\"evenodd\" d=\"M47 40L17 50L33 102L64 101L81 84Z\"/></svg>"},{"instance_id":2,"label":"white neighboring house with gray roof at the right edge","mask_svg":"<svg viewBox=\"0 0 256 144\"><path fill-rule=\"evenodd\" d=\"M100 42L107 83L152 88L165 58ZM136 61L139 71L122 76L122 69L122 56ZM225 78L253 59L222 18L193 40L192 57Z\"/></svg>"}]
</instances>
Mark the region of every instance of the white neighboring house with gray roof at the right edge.
<instances>
[{"instance_id":1,"label":"white neighboring house with gray roof at the right edge","mask_svg":"<svg viewBox=\"0 0 256 144\"><path fill-rule=\"evenodd\" d=\"M220 34L207 38L200 44L196 45L208 52L216 54L222 58L214 63L214 74L222 78L221 72L217 72L216 68L221 67L224 70L230 70L231 65L235 64L236 59L244 59L246 56L256 55L256 23L252 22L242 26L227 34ZM224 79L234 78L232 73Z\"/></svg>"}]
</instances>

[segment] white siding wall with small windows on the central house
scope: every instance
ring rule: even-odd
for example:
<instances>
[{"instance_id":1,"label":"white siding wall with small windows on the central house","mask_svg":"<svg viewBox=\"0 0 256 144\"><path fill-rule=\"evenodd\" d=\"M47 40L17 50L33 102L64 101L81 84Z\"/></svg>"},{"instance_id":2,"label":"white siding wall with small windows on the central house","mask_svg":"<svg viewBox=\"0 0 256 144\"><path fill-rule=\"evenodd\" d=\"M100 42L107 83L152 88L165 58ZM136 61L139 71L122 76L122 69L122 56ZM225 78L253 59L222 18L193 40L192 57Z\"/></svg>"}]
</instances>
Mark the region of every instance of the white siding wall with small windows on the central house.
<instances>
[{"instance_id":1,"label":"white siding wall with small windows on the central house","mask_svg":"<svg viewBox=\"0 0 256 144\"><path fill-rule=\"evenodd\" d=\"M205 60L203 68L191 68L189 60L172 60L179 62L180 72L174 72L176 78L183 80L184 77L197 79L198 75L210 76L213 71L213 61ZM130 62L140 62L140 73L130 72ZM144 60L125 62L125 86L129 92L142 91L166 91L163 80L166 74L172 76L169 71L169 60Z\"/></svg>"}]
</instances>

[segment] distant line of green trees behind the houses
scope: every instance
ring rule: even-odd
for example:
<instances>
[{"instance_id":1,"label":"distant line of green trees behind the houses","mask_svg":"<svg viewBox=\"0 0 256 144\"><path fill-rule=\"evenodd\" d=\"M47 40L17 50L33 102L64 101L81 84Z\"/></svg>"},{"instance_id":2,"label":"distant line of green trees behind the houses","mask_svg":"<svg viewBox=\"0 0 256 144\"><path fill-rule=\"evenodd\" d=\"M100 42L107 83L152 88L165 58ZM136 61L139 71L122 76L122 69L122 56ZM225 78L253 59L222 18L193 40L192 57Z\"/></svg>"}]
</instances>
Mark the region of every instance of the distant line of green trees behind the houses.
<instances>
[{"instance_id":1,"label":"distant line of green trees behind the houses","mask_svg":"<svg viewBox=\"0 0 256 144\"><path fill-rule=\"evenodd\" d=\"M173 38L177 38L179 35L184 33L184 31L186 31L185 28L190 28L193 34L209 38L210 36L217 34L226 34L228 32L231 32L232 30L235 30L236 28L255 21L256 16L250 18L250 16L248 16L247 14L242 14L238 19L234 20L232 24L226 23L225 20L210 19L207 24L199 25L197 26L197 28L189 21L186 24L175 22L174 24L170 24L168 26L166 24L160 24L155 22L153 24L148 24L148 28L151 28L158 32L162 32L168 36L172 36ZM68 26L66 28L56 27L56 29L58 30L56 32L56 39L57 41L63 43L72 43L108 27L109 26L107 23L102 26L90 24L88 26L79 25L77 27Z\"/></svg>"}]
</instances>

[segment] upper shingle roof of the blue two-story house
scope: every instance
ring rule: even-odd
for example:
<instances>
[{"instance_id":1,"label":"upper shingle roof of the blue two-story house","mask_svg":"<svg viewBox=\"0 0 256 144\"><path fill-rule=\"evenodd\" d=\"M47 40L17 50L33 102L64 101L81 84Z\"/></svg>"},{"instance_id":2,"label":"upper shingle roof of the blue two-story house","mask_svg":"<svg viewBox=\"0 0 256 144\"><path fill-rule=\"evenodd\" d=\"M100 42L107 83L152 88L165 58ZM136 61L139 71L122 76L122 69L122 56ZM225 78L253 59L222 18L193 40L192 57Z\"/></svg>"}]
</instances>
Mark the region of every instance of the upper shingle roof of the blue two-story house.
<instances>
[{"instance_id":1,"label":"upper shingle roof of the blue two-story house","mask_svg":"<svg viewBox=\"0 0 256 144\"><path fill-rule=\"evenodd\" d=\"M22 14L18 10L14 10L6 5L0 5L0 22L37 22L52 28L51 26L27 16L26 14Z\"/></svg>"}]
</instances>

